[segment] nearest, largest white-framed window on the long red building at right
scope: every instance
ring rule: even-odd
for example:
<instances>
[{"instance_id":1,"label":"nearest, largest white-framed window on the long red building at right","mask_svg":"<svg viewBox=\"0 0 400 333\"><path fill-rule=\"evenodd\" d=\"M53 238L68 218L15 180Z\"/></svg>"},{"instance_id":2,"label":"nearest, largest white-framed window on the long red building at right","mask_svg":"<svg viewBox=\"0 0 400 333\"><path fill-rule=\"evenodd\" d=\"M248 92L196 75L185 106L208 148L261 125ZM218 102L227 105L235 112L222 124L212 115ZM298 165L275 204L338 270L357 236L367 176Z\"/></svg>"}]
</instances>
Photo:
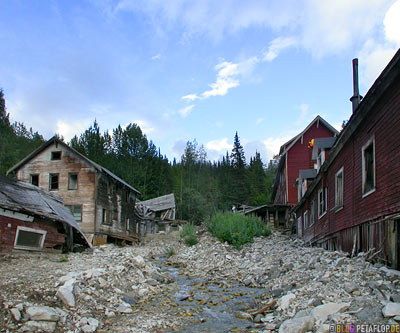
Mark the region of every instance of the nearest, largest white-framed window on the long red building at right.
<instances>
[{"instance_id":1,"label":"nearest, largest white-framed window on the long red building at right","mask_svg":"<svg viewBox=\"0 0 400 333\"><path fill-rule=\"evenodd\" d=\"M375 191L375 140L371 138L362 147L362 193Z\"/></svg>"}]
</instances>

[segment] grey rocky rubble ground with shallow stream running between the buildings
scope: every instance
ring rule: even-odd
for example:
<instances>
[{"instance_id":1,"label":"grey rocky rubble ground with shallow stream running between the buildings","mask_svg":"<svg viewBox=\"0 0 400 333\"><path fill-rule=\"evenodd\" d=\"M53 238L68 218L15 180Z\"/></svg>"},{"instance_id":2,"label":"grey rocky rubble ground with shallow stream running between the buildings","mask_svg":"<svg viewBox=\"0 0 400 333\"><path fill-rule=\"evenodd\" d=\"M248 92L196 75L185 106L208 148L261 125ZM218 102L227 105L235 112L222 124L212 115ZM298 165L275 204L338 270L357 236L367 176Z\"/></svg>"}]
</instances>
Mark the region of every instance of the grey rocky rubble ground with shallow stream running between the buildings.
<instances>
[{"instance_id":1,"label":"grey rocky rubble ground with shallow stream running between the buildings","mask_svg":"<svg viewBox=\"0 0 400 333\"><path fill-rule=\"evenodd\" d=\"M0 332L328 332L400 322L400 272L274 233L0 257ZM173 249L174 251L168 249ZM167 257L166 253L175 252Z\"/></svg>"}]
</instances>

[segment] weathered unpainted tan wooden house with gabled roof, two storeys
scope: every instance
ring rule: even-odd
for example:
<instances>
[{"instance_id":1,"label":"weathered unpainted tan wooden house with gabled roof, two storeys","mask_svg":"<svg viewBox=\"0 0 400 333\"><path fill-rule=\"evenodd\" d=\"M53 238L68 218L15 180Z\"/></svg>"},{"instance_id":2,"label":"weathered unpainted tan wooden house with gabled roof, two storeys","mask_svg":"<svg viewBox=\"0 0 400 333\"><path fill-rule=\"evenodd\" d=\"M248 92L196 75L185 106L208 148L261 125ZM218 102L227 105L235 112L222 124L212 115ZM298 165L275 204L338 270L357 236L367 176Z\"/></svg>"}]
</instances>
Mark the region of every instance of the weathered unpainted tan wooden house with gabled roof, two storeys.
<instances>
[{"instance_id":1,"label":"weathered unpainted tan wooden house with gabled roof, two storeys","mask_svg":"<svg viewBox=\"0 0 400 333\"><path fill-rule=\"evenodd\" d=\"M135 201L140 192L56 136L8 174L61 196L94 245L136 240Z\"/></svg>"}]
</instances>

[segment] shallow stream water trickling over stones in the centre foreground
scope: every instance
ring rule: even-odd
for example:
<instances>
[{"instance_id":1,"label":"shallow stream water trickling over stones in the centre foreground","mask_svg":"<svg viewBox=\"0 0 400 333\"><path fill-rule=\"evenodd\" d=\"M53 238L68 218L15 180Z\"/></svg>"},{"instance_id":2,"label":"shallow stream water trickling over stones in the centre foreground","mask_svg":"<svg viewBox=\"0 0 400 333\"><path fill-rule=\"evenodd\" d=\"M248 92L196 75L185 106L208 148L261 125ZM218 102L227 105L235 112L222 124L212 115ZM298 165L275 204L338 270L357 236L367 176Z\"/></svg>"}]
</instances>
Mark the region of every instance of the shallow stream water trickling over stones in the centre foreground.
<instances>
[{"instance_id":1,"label":"shallow stream water trickling over stones in the centre foreground","mask_svg":"<svg viewBox=\"0 0 400 333\"><path fill-rule=\"evenodd\" d=\"M168 265L166 257L156 263L161 272L174 282L170 301L177 316L188 317L189 323L178 332L257 332L262 325L237 318L239 312L257 308L257 300L265 295L262 288L249 288L233 281L213 281L188 277L183 269ZM176 305L176 306L175 306Z\"/></svg>"}]
</instances>

